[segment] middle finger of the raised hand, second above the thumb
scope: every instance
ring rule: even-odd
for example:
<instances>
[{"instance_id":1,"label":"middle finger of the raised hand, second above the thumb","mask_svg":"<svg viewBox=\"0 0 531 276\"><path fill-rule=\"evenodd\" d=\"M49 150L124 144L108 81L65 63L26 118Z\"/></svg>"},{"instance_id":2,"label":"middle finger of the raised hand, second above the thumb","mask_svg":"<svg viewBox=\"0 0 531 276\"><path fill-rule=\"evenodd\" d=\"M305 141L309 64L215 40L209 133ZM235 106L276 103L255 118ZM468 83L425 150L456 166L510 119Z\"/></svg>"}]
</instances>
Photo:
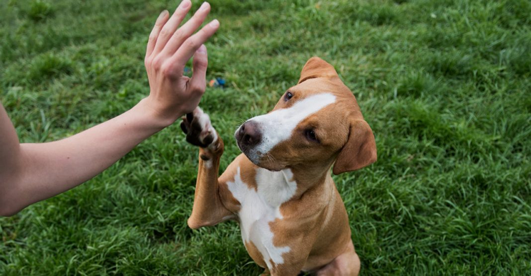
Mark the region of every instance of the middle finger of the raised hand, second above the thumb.
<instances>
[{"instance_id":1,"label":"middle finger of the raised hand, second above the thumb","mask_svg":"<svg viewBox=\"0 0 531 276\"><path fill-rule=\"evenodd\" d=\"M166 46L164 49L162 49L162 51L165 54L173 55L175 51L181 47L181 44L183 44L183 42L189 38L190 35L192 35L195 30L201 26L201 24L203 24L209 13L210 4L208 2L204 2L199 10L195 12L192 18L173 33L172 37L168 40L168 43L166 43Z\"/></svg>"}]
</instances>

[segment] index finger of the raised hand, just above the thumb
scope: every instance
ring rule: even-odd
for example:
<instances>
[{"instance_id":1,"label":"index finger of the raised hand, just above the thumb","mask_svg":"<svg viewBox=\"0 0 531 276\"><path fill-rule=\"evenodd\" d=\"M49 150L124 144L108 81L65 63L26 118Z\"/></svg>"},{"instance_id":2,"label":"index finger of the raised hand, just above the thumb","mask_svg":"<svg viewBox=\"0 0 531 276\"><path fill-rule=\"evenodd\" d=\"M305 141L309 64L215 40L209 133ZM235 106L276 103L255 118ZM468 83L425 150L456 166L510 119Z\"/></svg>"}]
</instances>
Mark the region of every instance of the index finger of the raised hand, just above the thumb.
<instances>
[{"instance_id":1,"label":"index finger of the raised hand, just above the thumb","mask_svg":"<svg viewBox=\"0 0 531 276\"><path fill-rule=\"evenodd\" d=\"M174 56L171 58L172 63L175 65L184 66L186 61L188 61L192 55L195 54L201 45L206 42L218 30L218 28L219 21L216 19L212 20L201 30L199 30L199 32L186 39L186 41L183 42L183 46L179 47L177 52L175 52Z\"/></svg>"}]
</instances>

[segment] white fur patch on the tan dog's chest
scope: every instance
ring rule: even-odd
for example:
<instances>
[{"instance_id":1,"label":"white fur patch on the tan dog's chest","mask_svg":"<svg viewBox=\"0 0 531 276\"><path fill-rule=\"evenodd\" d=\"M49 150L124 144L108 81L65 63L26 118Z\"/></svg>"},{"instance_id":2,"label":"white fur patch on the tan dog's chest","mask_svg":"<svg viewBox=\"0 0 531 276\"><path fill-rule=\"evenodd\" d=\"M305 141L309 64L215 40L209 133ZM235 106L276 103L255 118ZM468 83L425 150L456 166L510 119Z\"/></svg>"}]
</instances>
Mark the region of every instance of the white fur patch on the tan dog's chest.
<instances>
[{"instance_id":1,"label":"white fur patch on the tan dog's chest","mask_svg":"<svg viewBox=\"0 0 531 276\"><path fill-rule=\"evenodd\" d=\"M282 254L290 251L289 246L275 246L274 234L269 222L282 219L280 205L293 197L297 183L292 181L291 170L271 172L263 168L256 171L256 189L242 181L239 167L234 182L227 182L233 197L241 204L238 212L244 243L252 242L263 256L268 268L284 263Z\"/></svg>"}]
</instances>

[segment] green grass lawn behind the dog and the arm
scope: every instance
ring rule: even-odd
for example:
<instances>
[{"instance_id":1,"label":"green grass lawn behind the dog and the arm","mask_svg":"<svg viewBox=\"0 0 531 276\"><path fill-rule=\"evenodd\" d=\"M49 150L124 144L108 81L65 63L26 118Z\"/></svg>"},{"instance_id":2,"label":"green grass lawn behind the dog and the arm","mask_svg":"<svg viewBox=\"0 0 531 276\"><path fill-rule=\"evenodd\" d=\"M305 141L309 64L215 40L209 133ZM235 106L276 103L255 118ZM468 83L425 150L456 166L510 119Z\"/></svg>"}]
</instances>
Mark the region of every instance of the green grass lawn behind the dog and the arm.
<instances>
[{"instance_id":1,"label":"green grass lawn behind the dog and the arm","mask_svg":"<svg viewBox=\"0 0 531 276\"><path fill-rule=\"evenodd\" d=\"M212 0L201 101L239 153L311 56L356 95L378 162L335 176L362 275L531 273L531 2ZM200 1L194 1L194 9ZM3 0L0 101L23 142L148 94L152 23L177 1ZM1 137L0 137L1 141ZM0 218L1 275L256 275L235 222L191 230L197 149L178 123L91 181Z\"/></svg>"}]
</instances>

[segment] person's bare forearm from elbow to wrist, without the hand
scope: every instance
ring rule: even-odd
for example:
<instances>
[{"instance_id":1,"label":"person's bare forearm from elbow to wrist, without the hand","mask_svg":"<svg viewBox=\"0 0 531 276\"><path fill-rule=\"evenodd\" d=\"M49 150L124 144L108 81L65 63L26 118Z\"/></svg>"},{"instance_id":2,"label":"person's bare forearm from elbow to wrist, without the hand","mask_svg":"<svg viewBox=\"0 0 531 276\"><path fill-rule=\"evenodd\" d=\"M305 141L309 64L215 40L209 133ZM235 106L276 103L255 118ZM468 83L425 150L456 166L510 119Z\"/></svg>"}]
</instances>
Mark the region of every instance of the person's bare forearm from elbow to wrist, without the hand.
<instances>
[{"instance_id":1,"label":"person's bare forearm from elbow to wrist, without the hand","mask_svg":"<svg viewBox=\"0 0 531 276\"><path fill-rule=\"evenodd\" d=\"M21 144L18 174L5 191L7 214L91 179L169 121L142 100L131 110L74 136L44 144Z\"/></svg>"}]
</instances>

